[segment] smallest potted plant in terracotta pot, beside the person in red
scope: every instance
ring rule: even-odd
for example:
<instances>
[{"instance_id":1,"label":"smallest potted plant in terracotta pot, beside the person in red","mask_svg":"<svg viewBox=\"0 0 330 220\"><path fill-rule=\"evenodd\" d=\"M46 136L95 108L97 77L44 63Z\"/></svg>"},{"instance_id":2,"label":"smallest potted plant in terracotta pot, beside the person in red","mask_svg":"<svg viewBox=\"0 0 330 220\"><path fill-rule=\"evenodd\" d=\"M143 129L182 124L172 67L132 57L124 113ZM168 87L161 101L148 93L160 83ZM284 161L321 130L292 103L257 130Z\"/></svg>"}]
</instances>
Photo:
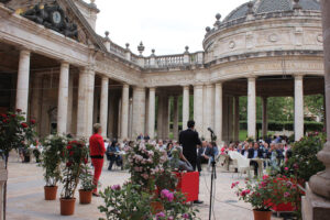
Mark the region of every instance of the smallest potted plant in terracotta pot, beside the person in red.
<instances>
[{"instance_id":1,"label":"smallest potted plant in terracotta pot, beside the person in red","mask_svg":"<svg viewBox=\"0 0 330 220\"><path fill-rule=\"evenodd\" d=\"M88 160L84 160L81 165L82 169L80 173L81 189L79 189L79 201L80 204L90 204L92 189L95 189L95 184L92 183L92 174L88 165Z\"/></svg>"}]
</instances>

